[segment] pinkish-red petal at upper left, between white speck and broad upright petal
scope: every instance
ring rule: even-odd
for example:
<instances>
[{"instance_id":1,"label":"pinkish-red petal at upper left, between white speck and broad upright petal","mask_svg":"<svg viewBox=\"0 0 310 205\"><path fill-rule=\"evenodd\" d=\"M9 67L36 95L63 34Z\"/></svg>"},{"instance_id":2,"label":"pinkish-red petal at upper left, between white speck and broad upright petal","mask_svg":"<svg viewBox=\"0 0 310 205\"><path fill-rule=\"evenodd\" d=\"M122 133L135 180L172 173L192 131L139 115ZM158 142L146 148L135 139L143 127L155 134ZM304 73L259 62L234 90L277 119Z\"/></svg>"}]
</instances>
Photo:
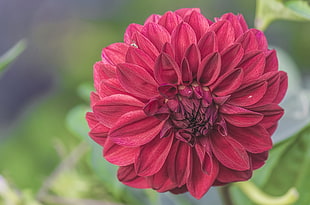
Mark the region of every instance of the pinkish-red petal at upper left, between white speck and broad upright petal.
<instances>
[{"instance_id":1,"label":"pinkish-red petal at upper left, between white speck and broad upright petal","mask_svg":"<svg viewBox=\"0 0 310 205\"><path fill-rule=\"evenodd\" d=\"M165 43L170 43L170 33L159 24L148 23L143 27L141 33L153 43L159 52Z\"/></svg>"}]
</instances>

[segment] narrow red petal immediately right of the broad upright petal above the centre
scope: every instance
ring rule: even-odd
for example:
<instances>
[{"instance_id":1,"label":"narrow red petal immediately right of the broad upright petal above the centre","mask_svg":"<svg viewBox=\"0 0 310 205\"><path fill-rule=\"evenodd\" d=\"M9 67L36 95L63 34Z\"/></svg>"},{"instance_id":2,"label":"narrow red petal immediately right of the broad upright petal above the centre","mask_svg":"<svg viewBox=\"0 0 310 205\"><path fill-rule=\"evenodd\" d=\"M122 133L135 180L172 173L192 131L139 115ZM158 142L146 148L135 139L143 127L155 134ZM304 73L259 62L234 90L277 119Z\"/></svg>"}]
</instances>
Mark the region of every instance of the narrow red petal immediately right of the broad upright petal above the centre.
<instances>
[{"instance_id":1,"label":"narrow red petal immediately right of the broad upright petal above the centre","mask_svg":"<svg viewBox=\"0 0 310 205\"><path fill-rule=\"evenodd\" d=\"M207 32L198 42L201 58L205 58L210 53L218 51L218 41L213 31Z\"/></svg>"}]
</instances>

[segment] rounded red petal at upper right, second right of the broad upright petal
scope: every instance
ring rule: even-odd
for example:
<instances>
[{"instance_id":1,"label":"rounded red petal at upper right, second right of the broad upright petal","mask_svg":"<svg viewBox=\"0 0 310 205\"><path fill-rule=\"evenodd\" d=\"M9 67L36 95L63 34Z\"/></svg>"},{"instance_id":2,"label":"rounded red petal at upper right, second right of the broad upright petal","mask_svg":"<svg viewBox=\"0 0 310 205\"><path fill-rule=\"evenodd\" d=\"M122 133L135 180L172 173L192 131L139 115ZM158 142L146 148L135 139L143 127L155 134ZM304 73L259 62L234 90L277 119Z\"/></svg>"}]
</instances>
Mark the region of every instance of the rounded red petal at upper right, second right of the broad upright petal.
<instances>
[{"instance_id":1,"label":"rounded red petal at upper right, second right of the broad upright petal","mask_svg":"<svg viewBox=\"0 0 310 205\"><path fill-rule=\"evenodd\" d=\"M229 21L218 21L212 24L209 31L214 31L217 36L219 51L230 46L235 40L235 32Z\"/></svg>"}]
</instances>

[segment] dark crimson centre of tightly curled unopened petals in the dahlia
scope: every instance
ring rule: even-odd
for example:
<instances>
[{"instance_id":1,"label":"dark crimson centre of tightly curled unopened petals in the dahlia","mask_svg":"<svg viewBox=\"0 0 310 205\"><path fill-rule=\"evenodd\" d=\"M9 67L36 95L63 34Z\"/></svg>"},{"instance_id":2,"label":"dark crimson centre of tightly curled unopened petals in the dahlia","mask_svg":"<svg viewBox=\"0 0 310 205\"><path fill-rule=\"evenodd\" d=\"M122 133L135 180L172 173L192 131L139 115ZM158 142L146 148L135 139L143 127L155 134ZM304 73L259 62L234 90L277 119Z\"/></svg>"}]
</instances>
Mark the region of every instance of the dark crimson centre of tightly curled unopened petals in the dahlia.
<instances>
[{"instance_id":1,"label":"dark crimson centre of tightly curled unopened petals in the dahlia","mask_svg":"<svg viewBox=\"0 0 310 205\"><path fill-rule=\"evenodd\" d=\"M212 132L227 135L225 120L219 107L227 98L212 96L208 87L192 83L188 86L163 85L159 88L161 99L151 100L144 111L166 123L161 137L174 132L175 137L194 146Z\"/></svg>"}]
</instances>

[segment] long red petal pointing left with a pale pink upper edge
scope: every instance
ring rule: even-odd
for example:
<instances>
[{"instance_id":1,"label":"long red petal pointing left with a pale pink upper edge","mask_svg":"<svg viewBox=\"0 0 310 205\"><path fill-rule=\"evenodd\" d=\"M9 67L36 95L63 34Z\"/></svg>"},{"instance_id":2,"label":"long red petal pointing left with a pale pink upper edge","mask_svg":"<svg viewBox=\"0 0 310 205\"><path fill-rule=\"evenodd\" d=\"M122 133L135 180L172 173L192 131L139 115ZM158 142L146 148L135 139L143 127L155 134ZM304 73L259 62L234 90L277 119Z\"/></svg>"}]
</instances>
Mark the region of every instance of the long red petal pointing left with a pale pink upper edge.
<instances>
[{"instance_id":1,"label":"long red petal pointing left with a pale pink upper edge","mask_svg":"<svg viewBox=\"0 0 310 205\"><path fill-rule=\"evenodd\" d=\"M125 113L141 110L144 103L134 97L123 94L111 95L103 98L94 107L97 119L107 127L113 124Z\"/></svg>"}]
</instances>

